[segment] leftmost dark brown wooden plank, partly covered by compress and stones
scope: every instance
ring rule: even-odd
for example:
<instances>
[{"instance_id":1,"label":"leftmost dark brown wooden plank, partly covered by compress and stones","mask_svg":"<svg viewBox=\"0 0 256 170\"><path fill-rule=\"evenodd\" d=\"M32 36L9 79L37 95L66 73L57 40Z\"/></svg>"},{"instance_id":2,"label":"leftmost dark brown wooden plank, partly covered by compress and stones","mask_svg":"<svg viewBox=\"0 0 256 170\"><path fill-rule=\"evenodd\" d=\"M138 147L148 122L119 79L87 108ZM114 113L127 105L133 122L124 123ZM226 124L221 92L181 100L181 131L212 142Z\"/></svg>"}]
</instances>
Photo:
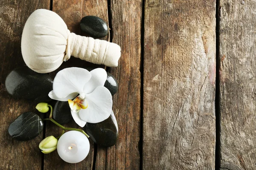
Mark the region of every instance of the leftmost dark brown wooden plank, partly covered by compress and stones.
<instances>
[{"instance_id":1,"label":"leftmost dark brown wooden plank, partly covered by compress and stones","mask_svg":"<svg viewBox=\"0 0 256 170\"><path fill-rule=\"evenodd\" d=\"M19 142L8 134L9 125L26 111L36 113L33 101L14 99L5 89L5 79L10 71L25 66L20 41L23 27L29 15L37 8L48 8L49 0L0 1L0 169L41 170L42 153L38 144L43 138Z\"/></svg>"}]
</instances>

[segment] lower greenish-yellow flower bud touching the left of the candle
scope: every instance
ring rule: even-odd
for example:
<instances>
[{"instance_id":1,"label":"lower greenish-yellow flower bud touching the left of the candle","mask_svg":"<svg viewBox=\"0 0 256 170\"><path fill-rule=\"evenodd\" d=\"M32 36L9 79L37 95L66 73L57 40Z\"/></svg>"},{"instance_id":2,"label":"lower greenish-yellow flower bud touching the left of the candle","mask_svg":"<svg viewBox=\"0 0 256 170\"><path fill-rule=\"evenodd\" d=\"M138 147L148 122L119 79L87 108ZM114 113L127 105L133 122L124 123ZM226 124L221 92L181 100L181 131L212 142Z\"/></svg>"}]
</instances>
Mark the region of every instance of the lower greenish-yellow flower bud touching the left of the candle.
<instances>
[{"instance_id":1,"label":"lower greenish-yellow flower bud touching the left of the candle","mask_svg":"<svg viewBox=\"0 0 256 170\"><path fill-rule=\"evenodd\" d=\"M48 136L40 142L39 148L41 149L42 153L51 153L57 149L57 143L58 139L56 139L54 136Z\"/></svg>"}]
</instances>

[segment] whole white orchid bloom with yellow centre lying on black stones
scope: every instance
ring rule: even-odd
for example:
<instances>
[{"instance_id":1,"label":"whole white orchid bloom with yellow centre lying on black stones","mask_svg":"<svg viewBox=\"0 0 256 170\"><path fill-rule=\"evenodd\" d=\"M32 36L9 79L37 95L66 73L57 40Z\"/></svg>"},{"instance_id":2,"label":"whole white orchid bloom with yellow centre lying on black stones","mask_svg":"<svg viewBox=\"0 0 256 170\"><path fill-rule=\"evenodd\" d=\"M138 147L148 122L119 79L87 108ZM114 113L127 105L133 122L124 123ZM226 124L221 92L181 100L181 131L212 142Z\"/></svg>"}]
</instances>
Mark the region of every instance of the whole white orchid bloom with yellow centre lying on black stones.
<instances>
[{"instance_id":1,"label":"whole white orchid bloom with yellow centre lying on black stones","mask_svg":"<svg viewBox=\"0 0 256 170\"><path fill-rule=\"evenodd\" d=\"M106 79L103 68L90 72L77 67L65 68L56 74L49 97L69 101L73 119L81 127L86 122L102 122L111 115L113 105L111 93L104 87Z\"/></svg>"}]
</instances>

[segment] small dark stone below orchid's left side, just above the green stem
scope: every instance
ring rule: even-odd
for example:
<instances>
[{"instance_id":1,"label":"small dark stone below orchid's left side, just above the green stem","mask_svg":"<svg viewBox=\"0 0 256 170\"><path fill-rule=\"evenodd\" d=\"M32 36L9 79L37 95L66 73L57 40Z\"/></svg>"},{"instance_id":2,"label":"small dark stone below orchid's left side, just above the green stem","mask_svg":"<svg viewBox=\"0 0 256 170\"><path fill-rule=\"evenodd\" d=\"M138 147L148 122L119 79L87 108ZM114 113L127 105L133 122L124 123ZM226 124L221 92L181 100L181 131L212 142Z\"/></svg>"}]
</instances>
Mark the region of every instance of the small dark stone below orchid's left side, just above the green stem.
<instances>
[{"instance_id":1,"label":"small dark stone below orchid's left side, just above the green stem","mask_svg":"<svg viewBox=\"0 0 256 170\"><path fill-rule=\"evenodd\" d=\"M52 118L61 125L67 124L72 119L68 102L57 101L53 108Z\"/></svg>"}]
</instances>

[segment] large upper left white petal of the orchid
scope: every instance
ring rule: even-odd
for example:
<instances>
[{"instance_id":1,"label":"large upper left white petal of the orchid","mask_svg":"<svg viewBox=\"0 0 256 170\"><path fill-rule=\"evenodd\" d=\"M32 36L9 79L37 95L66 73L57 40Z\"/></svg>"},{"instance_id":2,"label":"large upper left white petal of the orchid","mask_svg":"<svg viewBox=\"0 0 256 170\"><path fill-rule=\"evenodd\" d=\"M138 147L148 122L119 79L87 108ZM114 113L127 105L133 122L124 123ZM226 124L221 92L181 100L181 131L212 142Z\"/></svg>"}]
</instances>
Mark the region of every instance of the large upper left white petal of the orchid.
<instances>
[{"instance_id":1,"label":"large upper left white petal of the orchid","mask_svg":"<svg viewBox=\"0 0 256 170\"><path fill-rule=\"evenodd\" d=\"M82 93L85 83L91 78L89 71L71 67L59 71L53 80L53 91L58 98L65 98L72 93Z\"/></svg>"}]
</instances>

